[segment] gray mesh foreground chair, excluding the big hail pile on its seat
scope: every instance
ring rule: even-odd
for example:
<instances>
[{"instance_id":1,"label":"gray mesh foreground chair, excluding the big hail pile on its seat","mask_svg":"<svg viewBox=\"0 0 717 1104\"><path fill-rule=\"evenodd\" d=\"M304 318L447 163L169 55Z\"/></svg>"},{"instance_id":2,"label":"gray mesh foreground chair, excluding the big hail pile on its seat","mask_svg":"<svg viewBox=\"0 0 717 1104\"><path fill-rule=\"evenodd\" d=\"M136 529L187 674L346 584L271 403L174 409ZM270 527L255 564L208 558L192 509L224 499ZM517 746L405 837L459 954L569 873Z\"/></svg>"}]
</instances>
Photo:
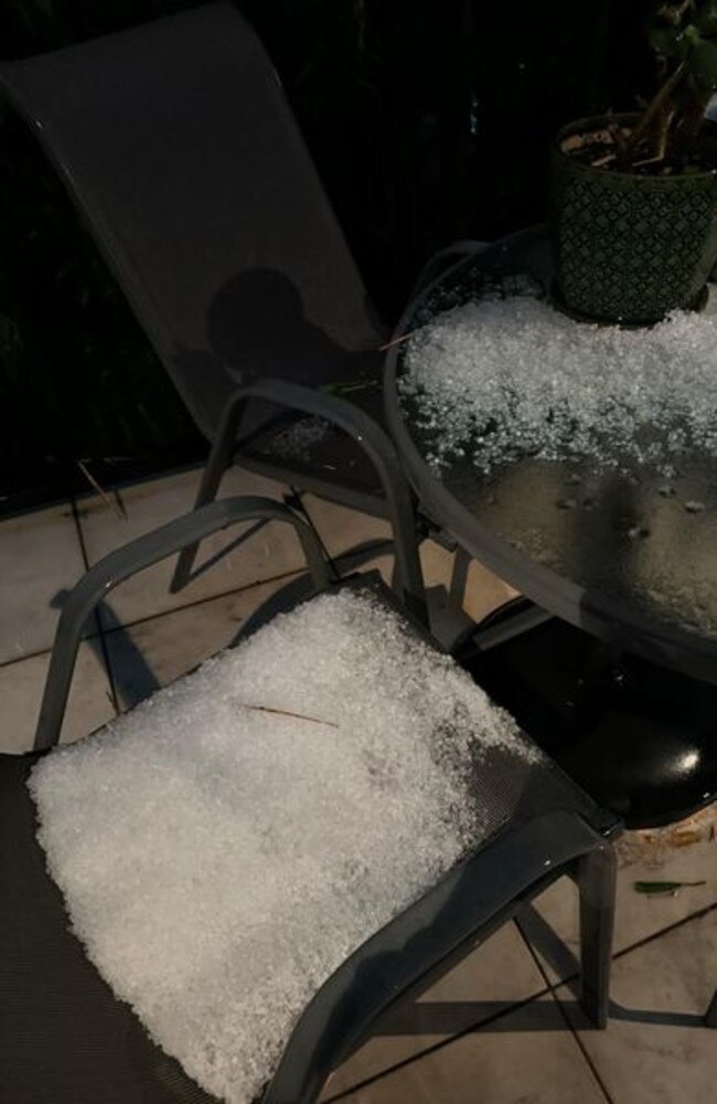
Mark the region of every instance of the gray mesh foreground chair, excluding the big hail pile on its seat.
<instances>
[{"instance_id":1,"label":"gray mesh foreground chair, excluding the big hail pile on its seat","mask_svg":"<svg viewBox=\"0 0 717 1104\"><path fill-rule=\"evenodd\" d=\"M395 496L388 501L399 558L406 561L413 533L403 528ZM368 588L375 601L397 612L409 634L435 646L421 623L376 574L332 583L308 523L268 499L227 498L202 507L90 569L63 608L35 750L25 756L0 756L0 1032L2 1087L9 1100L23 1104L99 1100L208 1104L211 1100L150 1041L128 1006L113 997L69 933L63 899L47 875L35 838L26 778L38 758L57 742L83 626L97 603L135 572L250 518L293 526L317 591ZM317 1100L330 1072L379 1031L402 1001L428 988L524 901L563 874L576 880L580 895L582 1006L595 1026L604 1026L614 900L611 838L619 829L618 819L586 797L549 760L535 762L500 744L475 760L469 792L481 810L480 839L318 989L283 1040L281 1060L264 1097L267 1104ZM151 848L151 840L147 846Z\"/></svg>"}]
</instances>

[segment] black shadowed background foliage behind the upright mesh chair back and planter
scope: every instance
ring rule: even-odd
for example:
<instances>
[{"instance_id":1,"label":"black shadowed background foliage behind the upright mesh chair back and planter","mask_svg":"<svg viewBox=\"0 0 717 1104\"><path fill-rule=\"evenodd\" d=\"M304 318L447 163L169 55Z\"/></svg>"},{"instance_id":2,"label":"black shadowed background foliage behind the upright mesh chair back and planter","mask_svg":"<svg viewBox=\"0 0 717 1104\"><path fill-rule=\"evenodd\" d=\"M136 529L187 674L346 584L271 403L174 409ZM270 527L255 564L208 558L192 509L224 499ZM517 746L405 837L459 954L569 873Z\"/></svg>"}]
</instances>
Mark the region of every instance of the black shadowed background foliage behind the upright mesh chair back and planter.
<instances>
[{"instance_id":1,"label":"black shadowed background foliage behind the upright mesh chair back and planter","mask_svg":"<svg viewBox=\"0 0 717 1104\"><path fill-rule=\"evenodd\" d=\"M3 0L0 57L186 0ZM395 317L431 252L545 216L557 127L648 92L650 0L243 0L370 291ZM23 125L0 103L0 495L202 443ZM0 501L0 507L2 501Z\"/></svg>"}]
</instances>

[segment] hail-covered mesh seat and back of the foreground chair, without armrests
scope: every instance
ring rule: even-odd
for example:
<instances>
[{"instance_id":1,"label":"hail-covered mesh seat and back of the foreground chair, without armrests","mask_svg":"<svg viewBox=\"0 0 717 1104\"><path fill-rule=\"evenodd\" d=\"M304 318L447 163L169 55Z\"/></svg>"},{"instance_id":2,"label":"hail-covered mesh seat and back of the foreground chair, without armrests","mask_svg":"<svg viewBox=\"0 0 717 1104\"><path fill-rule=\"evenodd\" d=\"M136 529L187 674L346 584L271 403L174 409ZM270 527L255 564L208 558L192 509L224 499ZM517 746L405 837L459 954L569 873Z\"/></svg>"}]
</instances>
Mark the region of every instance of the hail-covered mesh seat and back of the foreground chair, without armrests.
<instances>
[{"instance_id":1,"label":"hail-covered mesh seat and back of the foreground chair, without armrests","mask_svg":"<svg viewBox=\"0 0 717 1104\"><path fill-rule=\"evenodd\" d=\"M34 763L0 762L3 1087L28 1104L212 1100L67 932ZM447 870L541 810L596 811L375 584L275 619L51 753L31 786L93 960L232 1102L270 1078L323 979Z\"/></svg>"}]
</instances>

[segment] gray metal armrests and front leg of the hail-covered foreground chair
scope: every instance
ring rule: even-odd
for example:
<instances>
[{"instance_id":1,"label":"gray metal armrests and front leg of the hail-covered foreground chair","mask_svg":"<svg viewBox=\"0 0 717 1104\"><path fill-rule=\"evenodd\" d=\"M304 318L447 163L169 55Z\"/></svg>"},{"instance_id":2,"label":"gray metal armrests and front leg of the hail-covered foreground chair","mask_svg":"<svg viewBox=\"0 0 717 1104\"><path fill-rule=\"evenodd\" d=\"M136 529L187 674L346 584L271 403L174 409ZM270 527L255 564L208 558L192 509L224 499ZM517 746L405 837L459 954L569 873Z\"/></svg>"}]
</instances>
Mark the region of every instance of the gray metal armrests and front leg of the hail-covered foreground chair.
<instances>
[{"instance_id":1,"label":"gray metal armrests and front leg of the hail-covered foreground chair","mask_svg":"<svg viewBox=\"0 0 717 1104\"><path fill-rule=\"evenodd\" d=\"M315 590L335 583L311 527L281 502L226 498L175 519L105 556L89 569L65 604L47 675L35 749L45 751L60 728L83 626L107 593L152 563L214 532L259 518L290 523L301 542ZM347 581L352 585L352 581ZM354 577L353 585L365 585ZM386 588L383 588L386 595ZM435 646L421 622L394 604ZM580 895L581 1005L597 1028L607 1023L614 915L614 817L596 808L593 822L568 807L509 826L481 843L418 901L364 943L327 980L300 1016L264 1096L265 1104L315 1101L330 1073L403 1001L416 997L478 942L515 916L559 877Z\"/></svg>"}]
</instances>

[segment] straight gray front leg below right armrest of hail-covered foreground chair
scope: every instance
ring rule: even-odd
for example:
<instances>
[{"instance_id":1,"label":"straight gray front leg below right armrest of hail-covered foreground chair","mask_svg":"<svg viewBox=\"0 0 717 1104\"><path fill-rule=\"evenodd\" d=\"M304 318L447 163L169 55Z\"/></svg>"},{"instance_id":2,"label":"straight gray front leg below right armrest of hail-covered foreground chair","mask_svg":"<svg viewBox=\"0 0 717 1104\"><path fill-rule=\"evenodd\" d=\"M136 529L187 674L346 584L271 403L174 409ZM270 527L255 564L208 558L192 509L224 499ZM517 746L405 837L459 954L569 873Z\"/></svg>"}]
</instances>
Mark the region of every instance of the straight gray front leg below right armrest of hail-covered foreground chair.
<instances>
[{"instance_id":1,"label":"straight gray front leg below right armrest of hail-covered foreground chair","mask_svg":"<svg viewBox=\"0 0 717 1104\"><path fill-rule=\"evenodd\" d=\"M617 860L608 843L578 860L580 895L580 1004L596 1028L608 1025Z\"/></svg>"}]
</instances>

